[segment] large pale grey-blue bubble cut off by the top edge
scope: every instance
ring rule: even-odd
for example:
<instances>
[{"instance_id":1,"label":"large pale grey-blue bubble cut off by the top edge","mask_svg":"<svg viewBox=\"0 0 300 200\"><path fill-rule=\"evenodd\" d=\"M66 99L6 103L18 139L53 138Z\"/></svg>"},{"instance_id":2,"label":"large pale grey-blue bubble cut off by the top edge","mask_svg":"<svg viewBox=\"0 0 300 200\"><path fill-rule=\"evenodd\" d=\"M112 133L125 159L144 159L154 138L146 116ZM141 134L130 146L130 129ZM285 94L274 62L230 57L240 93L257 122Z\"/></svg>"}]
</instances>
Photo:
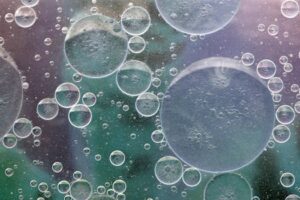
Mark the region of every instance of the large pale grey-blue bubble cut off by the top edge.
<instances>
[{"instance_id":1,"label":"large pale grey-blue bubble cut off by the top edge","mask_svg":"<svg viewBox=\"0 0 300 200\"><path fill-rule=\"evenodd\" d=\"M163 19L176 30L194 35L214 33L238 12L240 0L155 0Z\"/></svg>"}]
</instances>

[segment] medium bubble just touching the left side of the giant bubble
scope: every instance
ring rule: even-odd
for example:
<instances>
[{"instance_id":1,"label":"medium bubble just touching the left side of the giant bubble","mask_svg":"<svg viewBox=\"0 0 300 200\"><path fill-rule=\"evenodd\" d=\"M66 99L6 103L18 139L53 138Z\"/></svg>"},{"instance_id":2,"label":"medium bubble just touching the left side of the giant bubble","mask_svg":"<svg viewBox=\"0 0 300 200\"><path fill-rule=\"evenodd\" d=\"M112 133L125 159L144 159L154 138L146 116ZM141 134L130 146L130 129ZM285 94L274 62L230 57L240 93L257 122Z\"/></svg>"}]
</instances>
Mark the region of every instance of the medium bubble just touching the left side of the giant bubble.
<instances>
[{"instance_id":1,"label":"medium bubble just touching the left side of the giant bubble","mask_svg":"<svg viewBox=\"0 0 300 200\"><path fill-rule=\"evenodd\" d=\"M160 101L155 94L145 92L138 96L135 101L136 111L143 117L154 116L160 107Z\"/></svg>"}]
</instances>

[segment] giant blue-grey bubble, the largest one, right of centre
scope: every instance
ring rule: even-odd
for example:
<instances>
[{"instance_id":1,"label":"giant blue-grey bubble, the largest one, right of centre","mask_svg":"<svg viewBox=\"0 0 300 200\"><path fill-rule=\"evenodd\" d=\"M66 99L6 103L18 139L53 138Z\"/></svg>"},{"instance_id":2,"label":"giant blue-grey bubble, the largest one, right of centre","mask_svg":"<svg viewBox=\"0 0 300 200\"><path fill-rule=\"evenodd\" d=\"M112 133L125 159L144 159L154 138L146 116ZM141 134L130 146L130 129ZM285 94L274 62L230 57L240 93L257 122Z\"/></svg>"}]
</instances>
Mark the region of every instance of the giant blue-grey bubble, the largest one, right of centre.
<instances>
[{"instance_id":1,"label":"giant blue-grey bubble, the largest one, right of centre","mask_svg":"<svg viewBox=\"0 0 300 200\"><path fill-rule=\"evenodd\" d=\"M266 85L229 58L208 58L187 67L167 89L160 113L177 157L208 172L250 164L265 149L275 121Z\"/></svg>"}]
</instances>

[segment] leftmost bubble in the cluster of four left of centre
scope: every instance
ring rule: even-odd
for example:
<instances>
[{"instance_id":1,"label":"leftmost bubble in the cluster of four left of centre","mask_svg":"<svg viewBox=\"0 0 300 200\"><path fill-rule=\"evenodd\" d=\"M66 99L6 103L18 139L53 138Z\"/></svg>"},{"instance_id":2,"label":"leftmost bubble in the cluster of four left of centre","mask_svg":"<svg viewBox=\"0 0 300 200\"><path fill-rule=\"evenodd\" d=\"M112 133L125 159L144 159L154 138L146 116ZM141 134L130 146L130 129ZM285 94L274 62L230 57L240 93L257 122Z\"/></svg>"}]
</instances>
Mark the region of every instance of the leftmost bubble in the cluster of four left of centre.
<instances>
[{"instance_id":1,"label":"leftmost bubble in the cluster of four left of centre","mask_svg":"<svg viewBox=\"0 0 300 200\"><path fill-rule=\"evenodd\" d=\"M45 98L42 99L37 107L36 112L43 120L52 120L58 115L59 106L55 99Z\"/></svg>"}]
</instances>

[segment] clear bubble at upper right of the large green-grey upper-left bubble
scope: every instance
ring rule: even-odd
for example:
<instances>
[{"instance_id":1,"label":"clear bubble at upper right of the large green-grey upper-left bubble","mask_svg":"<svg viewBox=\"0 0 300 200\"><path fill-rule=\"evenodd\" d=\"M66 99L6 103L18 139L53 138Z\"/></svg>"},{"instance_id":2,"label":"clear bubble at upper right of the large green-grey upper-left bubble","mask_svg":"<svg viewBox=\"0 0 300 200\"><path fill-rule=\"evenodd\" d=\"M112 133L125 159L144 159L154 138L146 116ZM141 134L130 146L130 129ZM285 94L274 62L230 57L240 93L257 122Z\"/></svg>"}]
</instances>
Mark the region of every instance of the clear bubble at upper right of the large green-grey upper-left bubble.
<instances>
[{"instance_id":1,"label":"clear bubble at upper right of the large green-grey upper-left bubble","mask_svg":"<svg viewBox=\"0 0 300 200\"><path fill-rule=\"evenodd\" d=\"M131 6L123 12L121 24L129 35L142 35L150 28L151 18L145 8Z\"/></svg>"}]
</instances>

